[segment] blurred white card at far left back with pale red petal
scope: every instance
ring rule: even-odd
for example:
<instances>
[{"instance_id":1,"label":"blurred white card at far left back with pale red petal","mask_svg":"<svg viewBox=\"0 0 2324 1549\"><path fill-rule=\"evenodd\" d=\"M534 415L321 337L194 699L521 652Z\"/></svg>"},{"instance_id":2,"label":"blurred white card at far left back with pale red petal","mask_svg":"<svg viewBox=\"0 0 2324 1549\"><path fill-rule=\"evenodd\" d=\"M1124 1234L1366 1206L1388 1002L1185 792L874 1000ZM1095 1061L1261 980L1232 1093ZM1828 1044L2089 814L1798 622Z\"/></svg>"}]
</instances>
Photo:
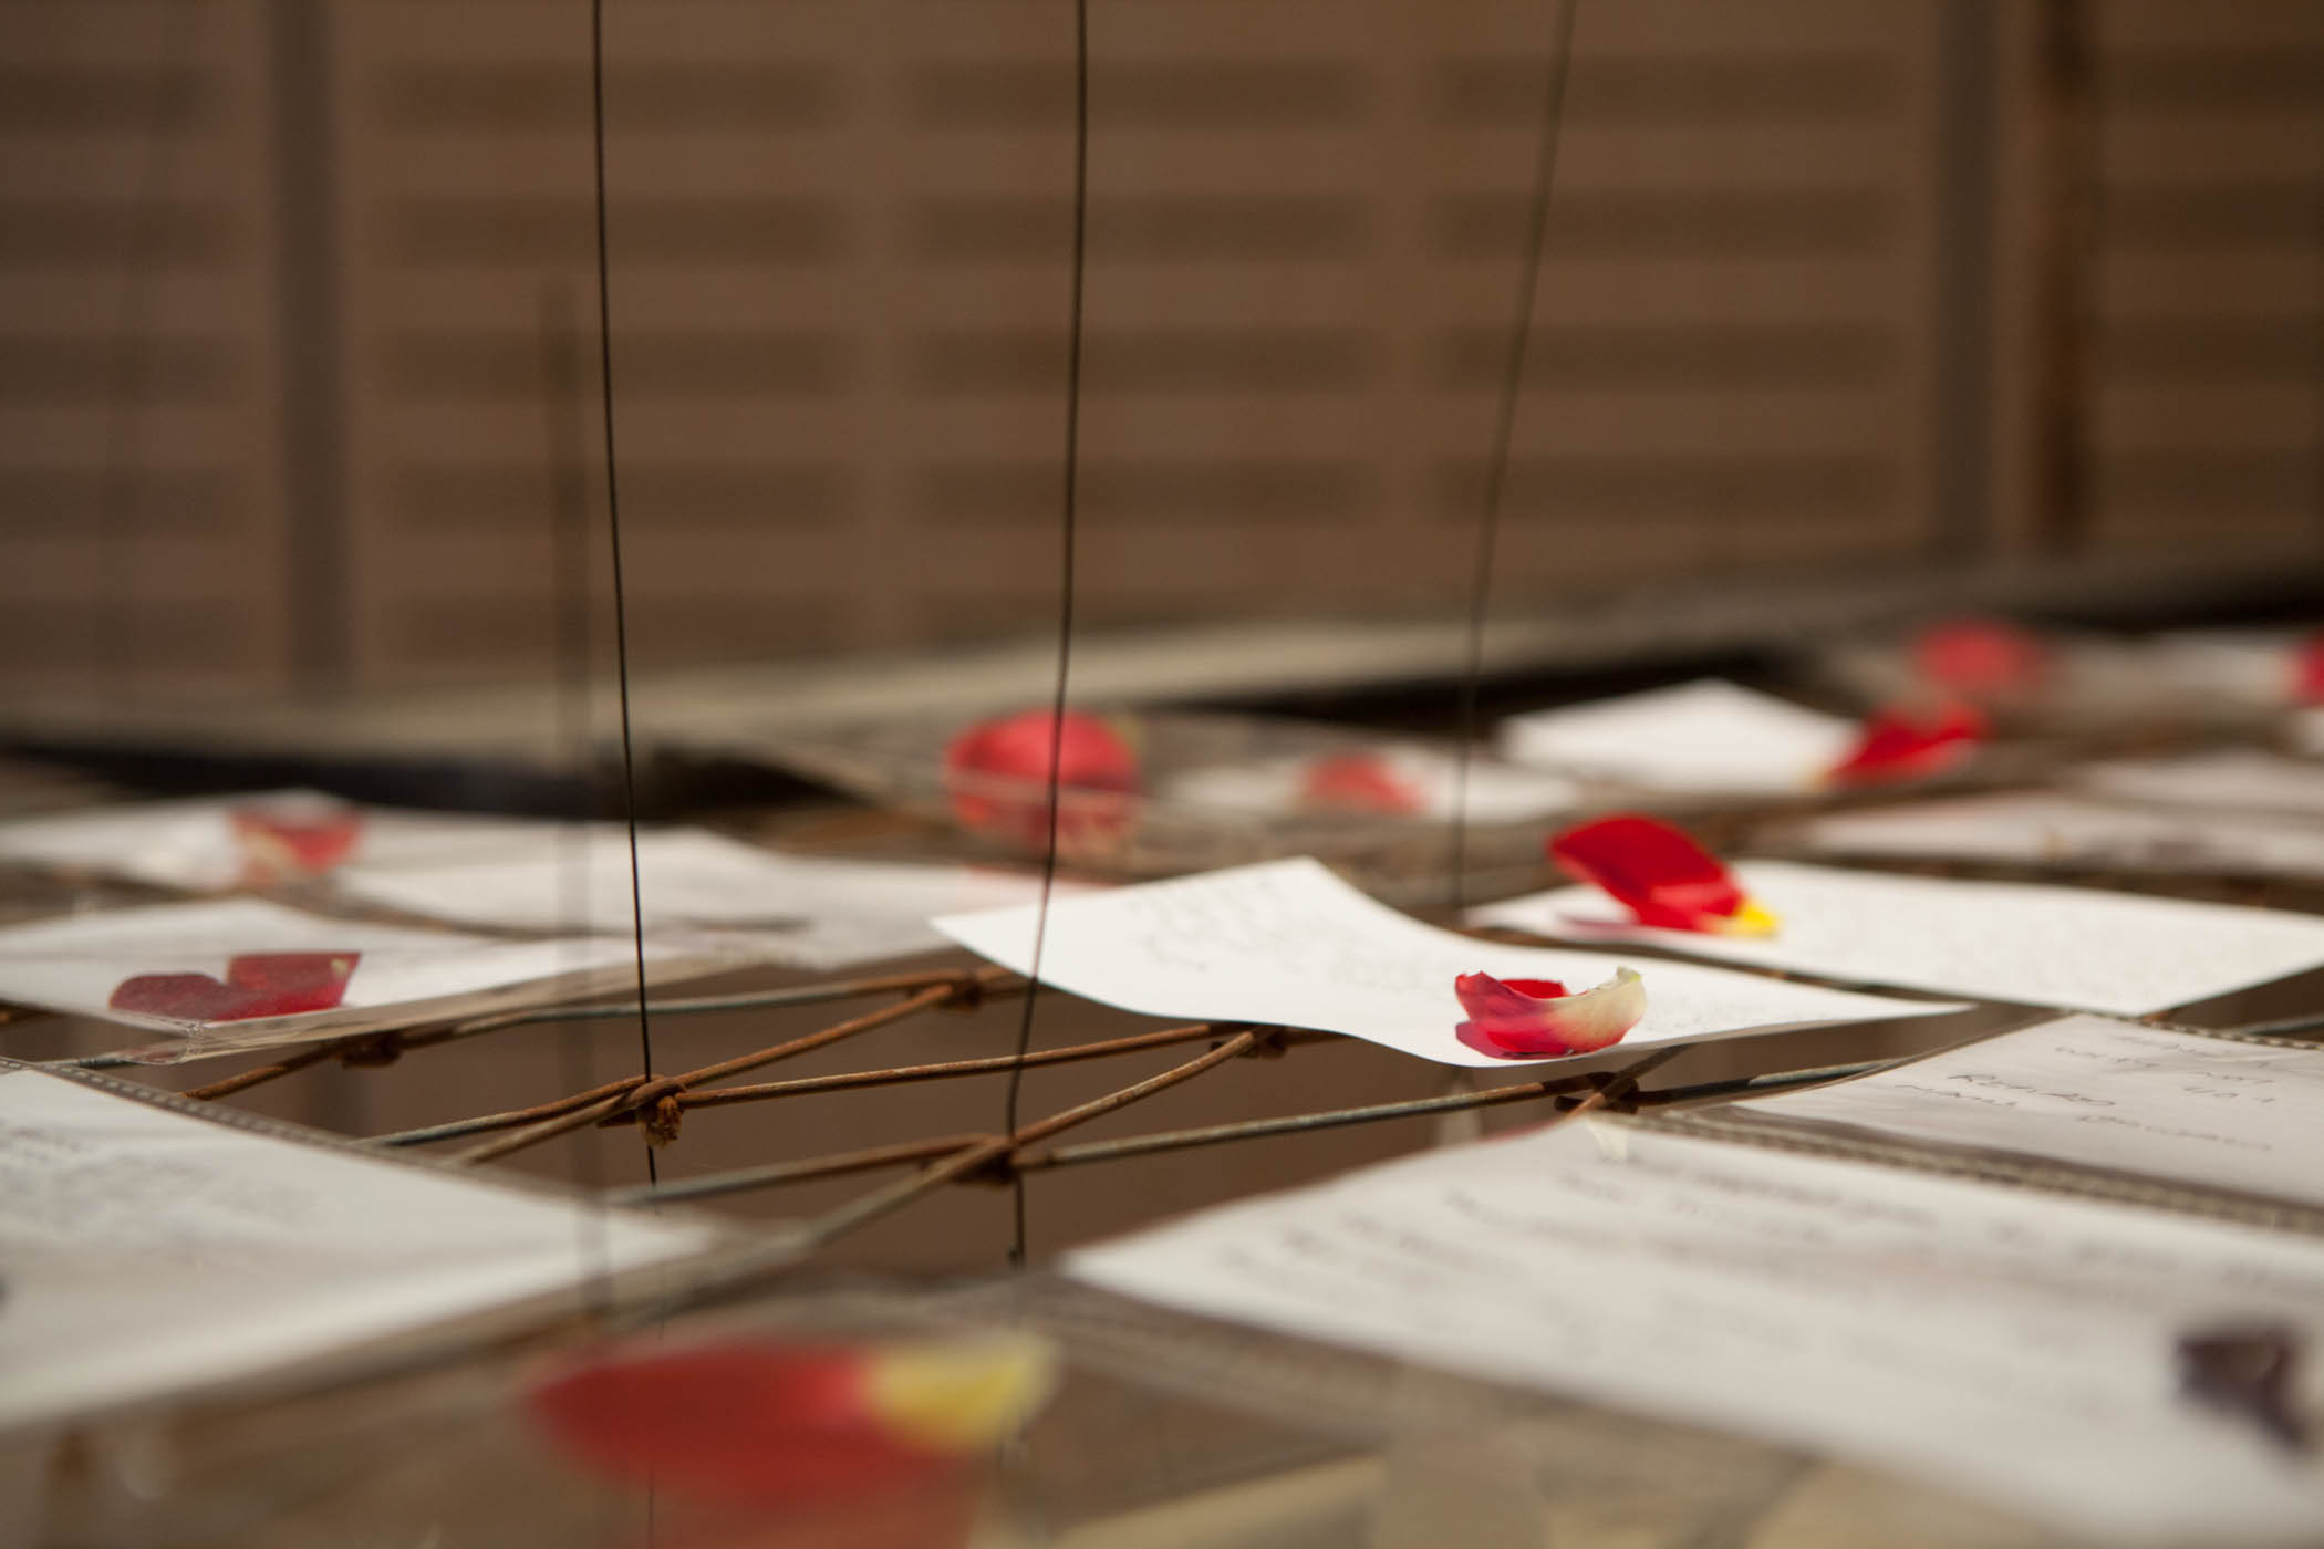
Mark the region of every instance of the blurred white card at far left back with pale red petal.
<instances>
[{"instance_id":1,"label":"blurred white card at far left back with pale red petal","mask_svg":"<svg viewBox=\"0 0 2324 1549\"><path fill-rule=\"evenodd\" d=\"M270 790L0 822L0 862L221 892L367 859L460 855L544 829L553 824L407 813L311 790Z\"/></svg>"}]
</instances>

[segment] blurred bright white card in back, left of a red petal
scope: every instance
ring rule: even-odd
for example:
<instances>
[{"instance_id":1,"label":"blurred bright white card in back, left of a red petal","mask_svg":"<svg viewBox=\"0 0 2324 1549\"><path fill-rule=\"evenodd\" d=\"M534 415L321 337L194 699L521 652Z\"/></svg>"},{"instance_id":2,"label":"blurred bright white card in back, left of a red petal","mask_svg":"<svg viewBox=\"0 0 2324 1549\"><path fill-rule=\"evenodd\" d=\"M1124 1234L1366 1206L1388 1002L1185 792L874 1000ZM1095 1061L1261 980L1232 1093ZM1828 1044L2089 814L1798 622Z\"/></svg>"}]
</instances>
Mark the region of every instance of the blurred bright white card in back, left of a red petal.
<instances>
[{"instance_id":1,"label":"blurred bright white card in back, left of a red petal","mask_svg":"<svg viewBox=\"0 0 2324 1549\"><path fill-rule=\"evenodd\" d=\"M1855 745L1857 727L1722 678L1511 715L1501 757L1645 790L1794 794Z\"/></svg>"}]
</instances>

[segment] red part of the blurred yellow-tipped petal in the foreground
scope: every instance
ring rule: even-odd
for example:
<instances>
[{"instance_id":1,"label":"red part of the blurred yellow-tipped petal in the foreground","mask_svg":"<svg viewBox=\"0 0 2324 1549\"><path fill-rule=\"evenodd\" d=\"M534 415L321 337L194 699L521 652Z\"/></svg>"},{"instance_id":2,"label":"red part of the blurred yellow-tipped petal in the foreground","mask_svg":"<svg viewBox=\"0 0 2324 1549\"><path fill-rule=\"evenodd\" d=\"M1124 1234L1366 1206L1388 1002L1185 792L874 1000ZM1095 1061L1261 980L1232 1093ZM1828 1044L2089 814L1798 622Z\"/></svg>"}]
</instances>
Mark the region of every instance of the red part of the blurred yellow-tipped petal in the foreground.
<instances>
[{"instance_id":1,"label":"red part of the blurred yellow-tipped petal in the foreground","mask_svg":"<svg viewBox=\"0 0 2324 1549\"><path fill-rule=\"evenodd\" d=\"M607 1475L718 1500L837 1500L955 1468L881 1424L867 1377L860 1352L734 1342L602 1361L528 1407Z\"/></svg>"}]
</instances>

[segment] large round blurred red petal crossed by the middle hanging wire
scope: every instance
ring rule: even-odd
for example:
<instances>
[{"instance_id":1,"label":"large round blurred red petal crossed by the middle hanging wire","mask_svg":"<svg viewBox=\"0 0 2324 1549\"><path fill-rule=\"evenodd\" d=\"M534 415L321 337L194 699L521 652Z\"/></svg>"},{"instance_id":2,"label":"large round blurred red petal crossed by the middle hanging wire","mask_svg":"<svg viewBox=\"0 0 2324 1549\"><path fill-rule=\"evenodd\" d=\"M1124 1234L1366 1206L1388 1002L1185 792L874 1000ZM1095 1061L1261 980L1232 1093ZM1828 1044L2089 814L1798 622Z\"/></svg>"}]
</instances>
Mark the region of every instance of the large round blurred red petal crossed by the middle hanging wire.
<instances>
[{"instance_id":1,"label":"large round blurred red petal crossed by the middle hanging wire","mask_svg":"<svg viewBox=\"0 0 2324 1549\"><path fill-rule=\"evenodd\" d=\"M1050 741L1057 743L1057 843L1102 848L1129 829L1136 813L1139 755L1102 718L1023 711L969 727L944 750L944 785L953 817L967 829L1027 848L1048 843Z\"/></svg>"}]
</instances>

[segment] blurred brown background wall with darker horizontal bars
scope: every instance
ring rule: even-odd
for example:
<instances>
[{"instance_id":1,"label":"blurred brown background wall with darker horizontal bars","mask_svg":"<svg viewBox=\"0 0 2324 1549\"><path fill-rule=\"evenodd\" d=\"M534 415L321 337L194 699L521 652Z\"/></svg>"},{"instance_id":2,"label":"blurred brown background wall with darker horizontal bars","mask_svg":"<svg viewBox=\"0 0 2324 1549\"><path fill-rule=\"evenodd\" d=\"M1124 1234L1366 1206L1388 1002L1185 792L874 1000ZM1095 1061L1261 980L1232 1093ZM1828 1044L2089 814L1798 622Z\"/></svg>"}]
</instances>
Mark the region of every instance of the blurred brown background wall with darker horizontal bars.
<instances>
[{"instance_id":1,"label":"blurred brown background wall with darker horizontal bars","mask_svg":"<svg viewBox=\"0 0 2324 1549\"><path fill-rule=\"evenodd\" d=\"M607 12L637 660L1050 627L1069 7ZM1464 604L1550 16L1092 0L1085 622ZM2324 7L1573 49L1499 606L2315 555ZM551 671L593 244L583 0L0 7L0 685Z\"/></svg>"}]
</instances>

